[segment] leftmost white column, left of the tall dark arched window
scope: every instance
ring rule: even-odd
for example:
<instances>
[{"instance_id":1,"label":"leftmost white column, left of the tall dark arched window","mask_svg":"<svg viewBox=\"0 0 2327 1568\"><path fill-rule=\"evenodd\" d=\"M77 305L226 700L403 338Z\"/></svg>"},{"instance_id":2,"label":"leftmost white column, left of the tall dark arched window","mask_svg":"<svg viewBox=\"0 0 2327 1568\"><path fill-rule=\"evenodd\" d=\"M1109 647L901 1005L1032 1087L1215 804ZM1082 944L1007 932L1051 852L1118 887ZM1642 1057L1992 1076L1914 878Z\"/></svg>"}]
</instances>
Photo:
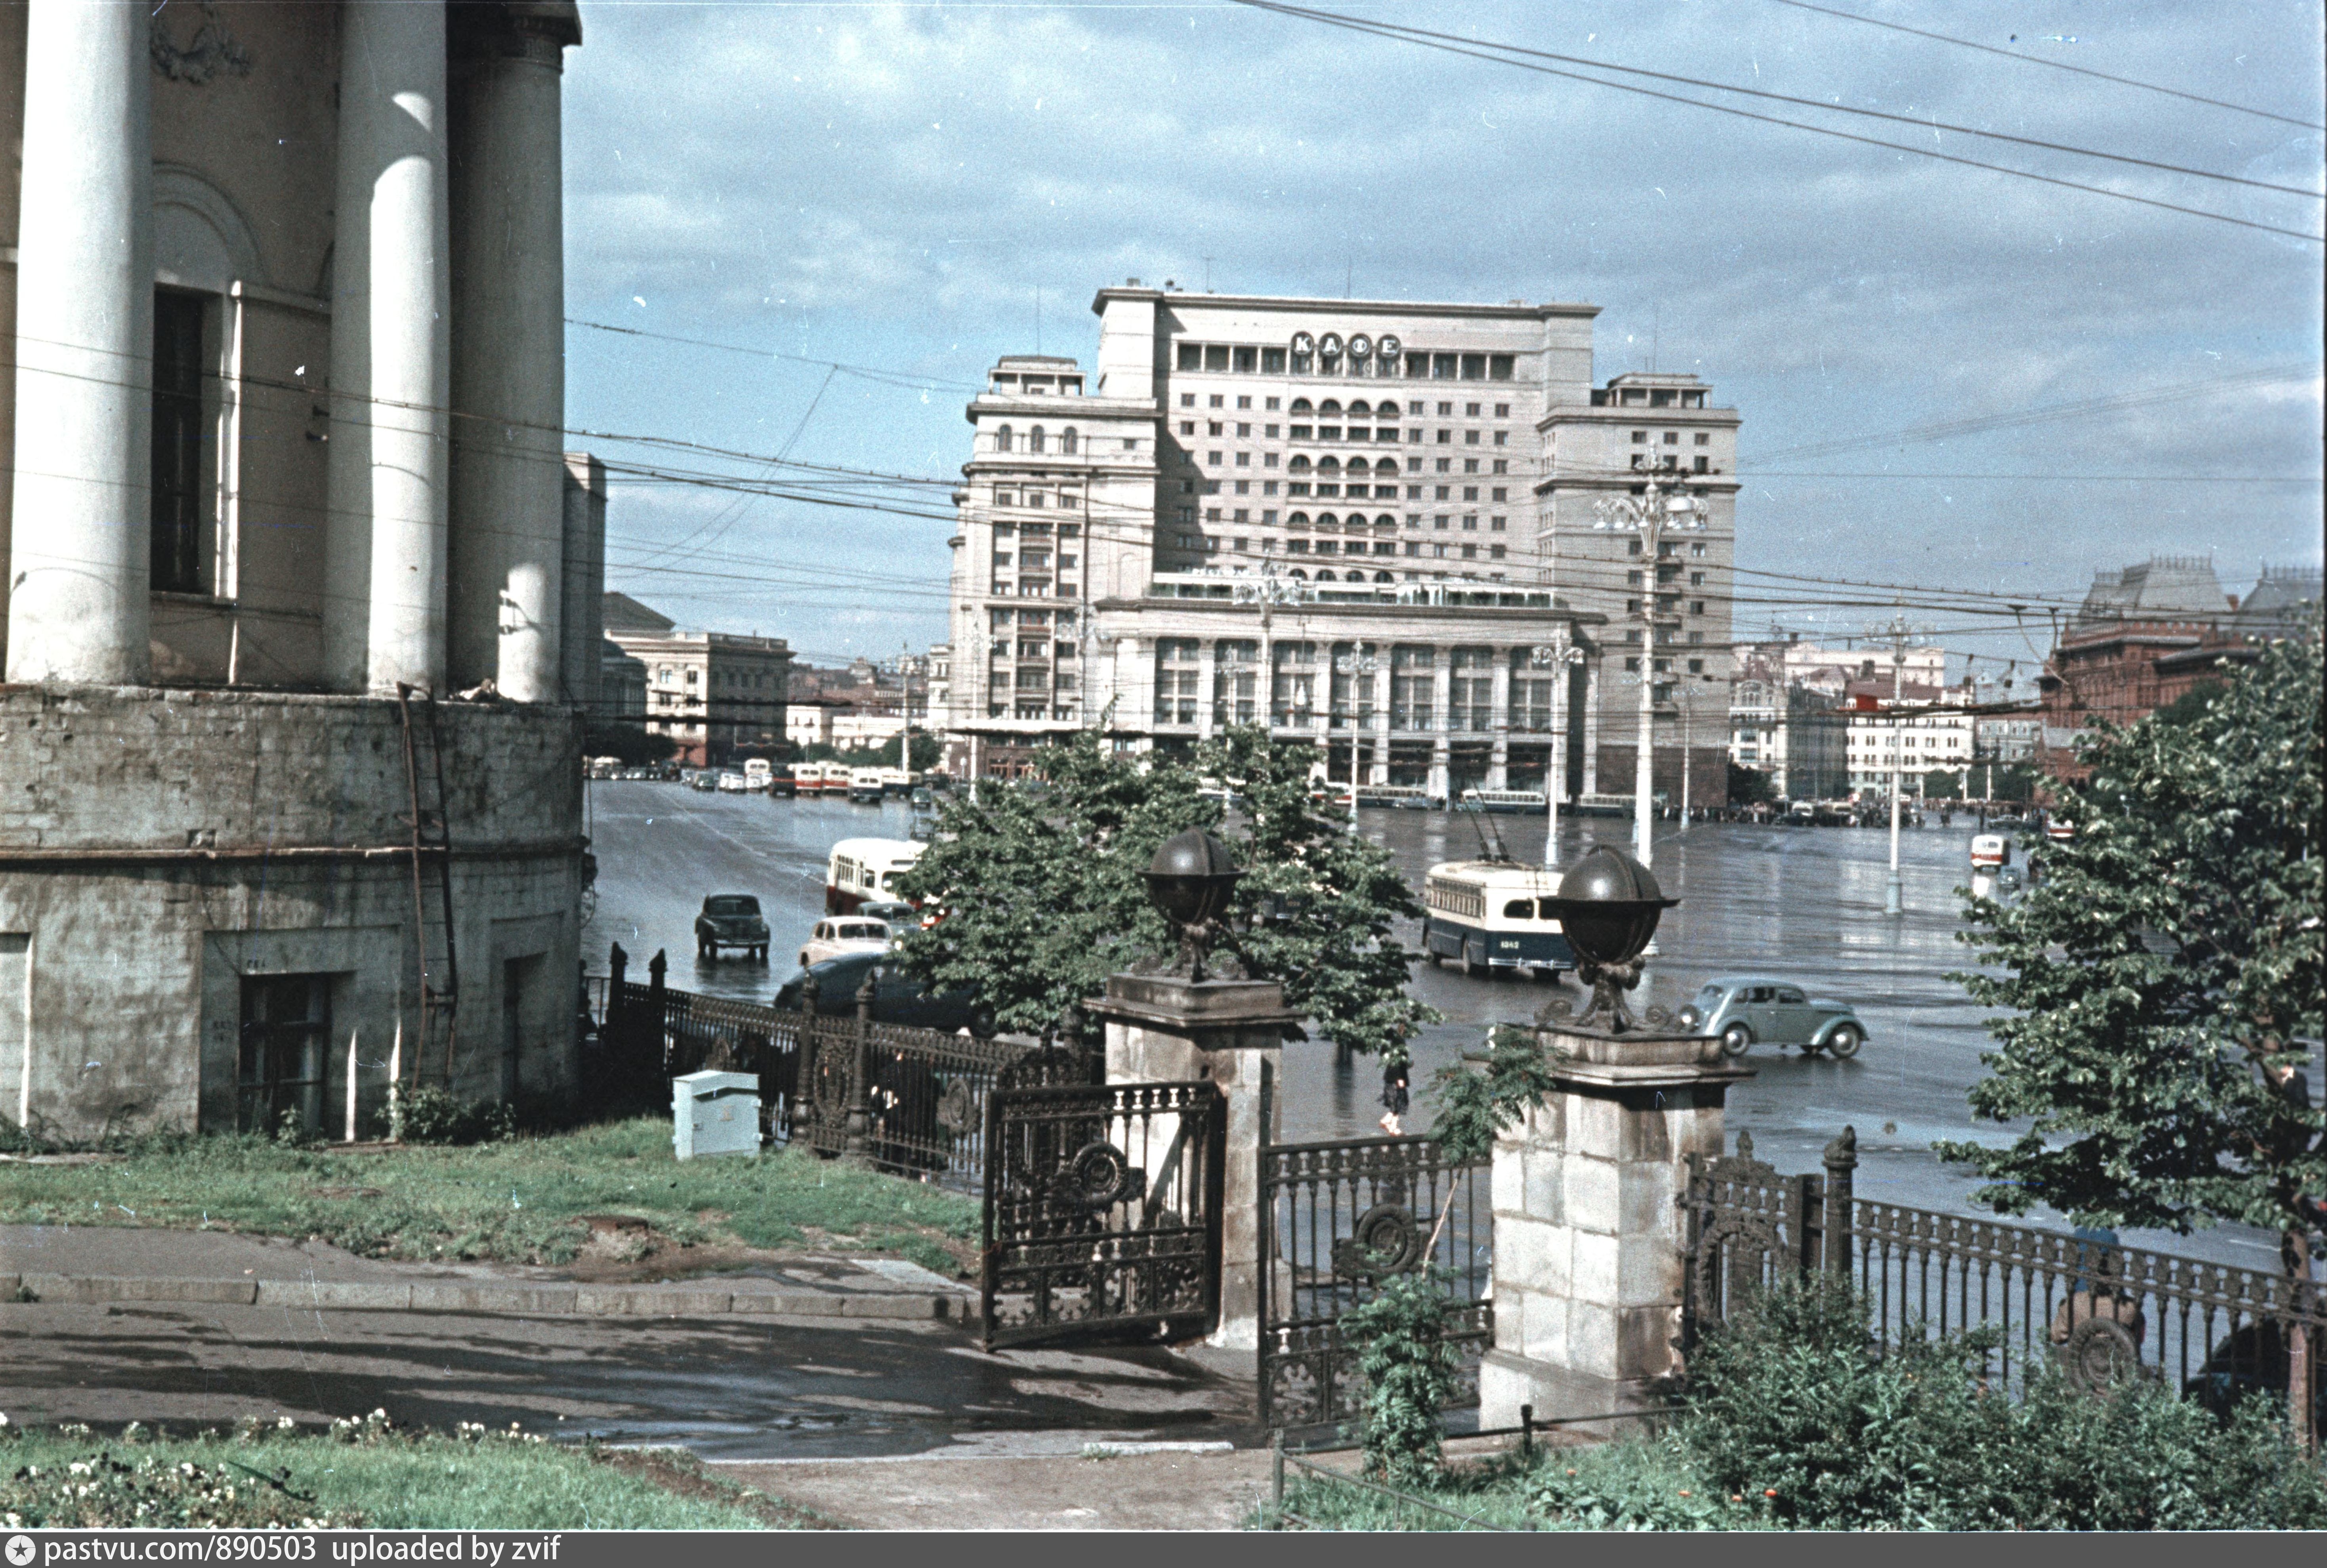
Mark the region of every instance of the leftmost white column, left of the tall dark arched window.
<instances>
[{"instance_id":1,"label":"leftmost white column, left of the tall dark arched window","mask_svg":"<svg viewBox=\"0 0 2327 1568\"><path fill-rule=\"evenodd\" d=\"M33 0L16 228L7 679L149 675L154 67L149 7Z\"/></svg>"}]
</instances>

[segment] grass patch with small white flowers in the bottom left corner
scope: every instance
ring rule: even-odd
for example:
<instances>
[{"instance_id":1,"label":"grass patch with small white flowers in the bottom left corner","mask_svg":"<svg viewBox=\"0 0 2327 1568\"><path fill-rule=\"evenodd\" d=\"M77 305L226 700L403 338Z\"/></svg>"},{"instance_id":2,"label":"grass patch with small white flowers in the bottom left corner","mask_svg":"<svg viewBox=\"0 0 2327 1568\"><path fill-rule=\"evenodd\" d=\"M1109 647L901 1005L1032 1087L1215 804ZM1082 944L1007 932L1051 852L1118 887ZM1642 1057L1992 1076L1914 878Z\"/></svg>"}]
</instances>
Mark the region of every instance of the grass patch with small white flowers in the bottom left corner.
<instances>
[{"instance_id":1,"label":"grass patch with small white flowers in the bottom left corner","mask_svg":"<svg viewBox=\"0 0 2327 1568\"><path fill-rule=\"evenodd\" d=\"M686 1454L579 1449L521 1433L330 1435L247 1424L235 1435L26 1431L0 1442L7 1528L219 1524L391 1531L756 1531L819 1524L719 1480Z\"/></svg>"}]
</instances>

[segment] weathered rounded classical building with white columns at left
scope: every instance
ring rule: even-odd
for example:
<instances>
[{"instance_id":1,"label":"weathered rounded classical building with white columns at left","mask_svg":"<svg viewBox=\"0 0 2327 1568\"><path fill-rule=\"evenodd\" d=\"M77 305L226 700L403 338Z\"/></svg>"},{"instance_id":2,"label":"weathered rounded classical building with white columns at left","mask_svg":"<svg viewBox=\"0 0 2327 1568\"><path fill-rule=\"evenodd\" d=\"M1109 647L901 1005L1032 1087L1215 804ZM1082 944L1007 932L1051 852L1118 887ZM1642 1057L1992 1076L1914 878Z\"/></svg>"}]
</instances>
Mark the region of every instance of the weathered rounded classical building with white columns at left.
<instances>
[{"instance_id":1,"label":"weathered rounded classical building with white columns at left","mask_svg":"<svg viewBox=\"0 0 2327 1568\"><path fill-rule=\"evenodd\" d=\"M572 44L542 0L0 9L9 1121L572 1089Z\"/></svg>"}]
</instances>

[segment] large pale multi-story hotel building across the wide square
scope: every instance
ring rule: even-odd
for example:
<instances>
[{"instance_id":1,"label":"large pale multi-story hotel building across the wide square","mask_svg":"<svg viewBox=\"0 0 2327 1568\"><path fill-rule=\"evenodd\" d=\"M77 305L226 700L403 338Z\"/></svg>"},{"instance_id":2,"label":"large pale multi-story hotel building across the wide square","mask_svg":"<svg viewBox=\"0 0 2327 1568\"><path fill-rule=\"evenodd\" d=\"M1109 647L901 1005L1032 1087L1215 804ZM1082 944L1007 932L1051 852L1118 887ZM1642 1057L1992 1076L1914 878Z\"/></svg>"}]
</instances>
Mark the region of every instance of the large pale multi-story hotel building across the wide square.
<instances>
[{"instance_id":1,"label":"large pale multi-story hotel building across the wide square","mask_svg":"<svg viewBox=\"0 0 2327 1568\"><path fill-rule=\"evenodd\" d=\"M1564 796L1624 793L1645 656L1657 789L1701 682L1694 786L1720 798L1738 419L1701 382L1594 386L1594 305L1133 279L1094 312L1094 384L1005 356L968 405L949 726L980 772L1087 724L1168 747L1266 719L1333 777L1354 744L1366 782L1454 796L1540 786L1557 724ZM1648 468L1701 475L1703 526L1654 565L1596 505ZM1627 654L1641 614L1654 649Z\"/></svg>"}]
</instances>

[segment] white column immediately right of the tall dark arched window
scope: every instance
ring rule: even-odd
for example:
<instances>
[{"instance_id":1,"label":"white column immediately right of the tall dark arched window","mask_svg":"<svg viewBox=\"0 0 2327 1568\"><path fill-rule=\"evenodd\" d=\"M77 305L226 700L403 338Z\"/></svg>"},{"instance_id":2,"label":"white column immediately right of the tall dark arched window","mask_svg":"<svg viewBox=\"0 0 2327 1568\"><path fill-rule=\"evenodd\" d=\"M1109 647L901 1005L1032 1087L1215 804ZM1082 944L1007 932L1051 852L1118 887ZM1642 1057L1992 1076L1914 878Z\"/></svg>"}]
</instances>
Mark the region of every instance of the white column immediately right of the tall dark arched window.
<instances>
[{"instance_id":1,"label":"white column immediately right of the tall dark arched window","mask_svg":"<svg viewBox=\"0 0 2327 1568\"><path fill-rule=\"evenodd\" d=\"M323 675L444 684L444 7L340 7Z\"/></svg>"}]
</instances>

